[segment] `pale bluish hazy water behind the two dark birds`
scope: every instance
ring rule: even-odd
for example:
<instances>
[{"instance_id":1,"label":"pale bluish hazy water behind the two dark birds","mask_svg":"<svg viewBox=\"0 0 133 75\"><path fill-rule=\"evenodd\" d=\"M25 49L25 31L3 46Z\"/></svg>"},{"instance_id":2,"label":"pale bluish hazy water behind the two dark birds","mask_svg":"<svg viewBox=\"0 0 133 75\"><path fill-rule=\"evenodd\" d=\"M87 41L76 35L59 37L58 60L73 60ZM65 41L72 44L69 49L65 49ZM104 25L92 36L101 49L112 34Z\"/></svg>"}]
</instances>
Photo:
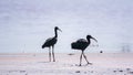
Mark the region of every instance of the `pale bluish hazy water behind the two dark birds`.
<instances>
[{"instance_id":1,"label":"pale bluish hazy water behind the two dark birds","mask_svg":"<svg viewBox=\"0 0 133 75\"><path fill-rule=\"evenodd\" d=\"M45 53L54 26L55 53L86 34L99 41L88 52L133 52L133 0L0 0L0 53Z\"/></svg>"}]
</instances>

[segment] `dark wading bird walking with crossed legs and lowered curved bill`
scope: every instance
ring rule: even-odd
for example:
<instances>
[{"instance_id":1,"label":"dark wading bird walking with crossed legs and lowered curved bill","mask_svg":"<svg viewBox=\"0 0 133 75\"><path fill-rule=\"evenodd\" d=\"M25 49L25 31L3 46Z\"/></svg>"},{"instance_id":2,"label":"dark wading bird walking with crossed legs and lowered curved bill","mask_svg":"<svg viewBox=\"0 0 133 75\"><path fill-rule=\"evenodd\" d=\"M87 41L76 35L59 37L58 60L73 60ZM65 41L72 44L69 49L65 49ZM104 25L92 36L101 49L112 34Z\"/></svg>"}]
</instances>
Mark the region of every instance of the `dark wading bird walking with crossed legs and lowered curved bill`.
<instances>
[{"instance_id":1,"label":"dark wading bird walking with crossed legs and lowered curved bill","mask_svg":"<svg viewBox=\"0 0 133 75\"><path fill-rule=\"evenodd\" d=\"M86 56L84 55L84 50L90 45L91 41L90 39L93 39L94 41L96 41L94 38L92 38L91 35L86 35L86 40L84 39L80 39L76 42L71 43L71 47L74 50L81 50L81 56L80 56L80 66L81 66L81 61L82 61L82 55L84 56L85 61L89 63L89 61L86 60ZM98 41L96 41L98 42Z\"/></svg>"}]
</instances>

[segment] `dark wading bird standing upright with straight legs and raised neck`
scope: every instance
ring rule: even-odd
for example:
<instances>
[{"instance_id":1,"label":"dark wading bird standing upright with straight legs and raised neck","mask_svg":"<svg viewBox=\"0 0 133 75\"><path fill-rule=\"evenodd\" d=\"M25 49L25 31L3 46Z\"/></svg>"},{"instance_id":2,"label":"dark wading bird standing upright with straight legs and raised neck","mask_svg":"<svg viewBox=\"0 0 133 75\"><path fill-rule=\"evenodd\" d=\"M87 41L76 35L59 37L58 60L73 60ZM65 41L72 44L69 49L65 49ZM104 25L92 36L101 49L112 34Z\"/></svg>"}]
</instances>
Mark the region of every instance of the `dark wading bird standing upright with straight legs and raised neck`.
<instances>
[{"instance_id":1,"label":"dark wading bird standing upright with straight legs and raised neck","mask_svg":"<svg viewBox=\"0 0 133 75\"><path fill-rule=\"evenodd\" d=\"M49 47L49 60L51 62L51 54L53 56L53 62L55 62L55 58L54 58L54 44L57 43L58 41L58 30L61 31L58 26L54 28L54 33L55 35L53 38L49 38L44 44L42 45L42 49L44 47ZM51 46L52 46L52 53L51 53Z\"/></svg>"}]
</instances>

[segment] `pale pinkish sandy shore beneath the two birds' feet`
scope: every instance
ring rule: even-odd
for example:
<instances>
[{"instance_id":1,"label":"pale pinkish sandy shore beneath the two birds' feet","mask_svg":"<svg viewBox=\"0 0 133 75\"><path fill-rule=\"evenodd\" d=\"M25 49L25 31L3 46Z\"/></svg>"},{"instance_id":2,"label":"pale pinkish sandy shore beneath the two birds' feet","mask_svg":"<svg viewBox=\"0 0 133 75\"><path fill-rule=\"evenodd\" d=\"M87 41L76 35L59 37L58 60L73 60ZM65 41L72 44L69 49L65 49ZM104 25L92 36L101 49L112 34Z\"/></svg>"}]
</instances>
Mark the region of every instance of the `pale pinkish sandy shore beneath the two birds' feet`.
<instances>
[{"instance_id":1,"label":"pale pinkish sandy shore beneath the two birds' feet","mask_svg":"<svg viewBox=\"0 0 133 75\"><path fill-rule=\"evenodd\" d=\"M132 53L86 53L92 65L80 54L57 53L49 62L47 53L0 54L0 75L133 75Z\"/></svg>"}]
</instances>

